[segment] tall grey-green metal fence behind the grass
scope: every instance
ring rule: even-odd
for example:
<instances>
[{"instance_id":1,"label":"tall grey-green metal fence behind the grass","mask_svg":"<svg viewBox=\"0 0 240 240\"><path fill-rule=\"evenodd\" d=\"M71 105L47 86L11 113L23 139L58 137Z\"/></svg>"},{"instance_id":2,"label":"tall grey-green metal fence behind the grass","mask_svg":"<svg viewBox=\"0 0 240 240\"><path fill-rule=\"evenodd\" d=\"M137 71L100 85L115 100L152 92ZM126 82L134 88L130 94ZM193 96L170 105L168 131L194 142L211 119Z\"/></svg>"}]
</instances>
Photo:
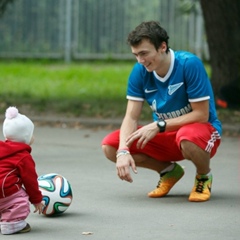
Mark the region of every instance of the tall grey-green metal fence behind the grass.
<instances>
[{"instance_id":1,"label":"tall grey-green metal fence behind the grass","mask_svg":"<svg viewBox=\"0 0 240 240\"><path fill-rule=\"evenodd\" d=\"M16 0L0 19L0 57L129 59L128 33L142 21L157 20L170 36L170 47L207 58L199 3L187 0L195 10L186 14L183 2Z\"/></svg>"}]
</instances>

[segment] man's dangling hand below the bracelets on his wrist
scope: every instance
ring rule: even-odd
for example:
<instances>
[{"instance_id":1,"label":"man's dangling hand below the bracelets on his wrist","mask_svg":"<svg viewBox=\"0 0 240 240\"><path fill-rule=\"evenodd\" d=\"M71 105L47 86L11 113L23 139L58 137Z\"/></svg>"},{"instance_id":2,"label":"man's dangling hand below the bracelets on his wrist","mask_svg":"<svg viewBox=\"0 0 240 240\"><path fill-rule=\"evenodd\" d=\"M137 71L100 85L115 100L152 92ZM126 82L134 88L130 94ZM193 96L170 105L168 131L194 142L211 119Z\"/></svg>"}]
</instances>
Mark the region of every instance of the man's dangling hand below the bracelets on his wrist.
<instances>
[{"instance_id":1,"label":"man's dangling hand below the bracelets on his wrist","mask_svg":"<svg viewBox=\"0 0 240 240\"><path fill-rule=\"evenodd\" d=\"M121 155L116 161L117 175L120 179L127 182L132 182L132 177L130 174L130 168L132 168L134 173L137 173L137 168L135 162L130 154Z\"/></svg>"}]
</instances>

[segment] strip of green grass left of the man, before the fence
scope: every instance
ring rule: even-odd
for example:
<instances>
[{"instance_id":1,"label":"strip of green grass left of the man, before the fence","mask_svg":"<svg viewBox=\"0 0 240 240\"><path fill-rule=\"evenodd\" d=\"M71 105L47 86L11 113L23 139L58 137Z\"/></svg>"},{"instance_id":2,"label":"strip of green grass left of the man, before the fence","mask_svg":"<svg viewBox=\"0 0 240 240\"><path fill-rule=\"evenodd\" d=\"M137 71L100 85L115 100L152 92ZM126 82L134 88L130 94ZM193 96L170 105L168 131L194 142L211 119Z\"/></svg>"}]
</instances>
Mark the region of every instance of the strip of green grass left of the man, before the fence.
<instances>
[{"instance_id":1,"label":"strip of green grass left of the man, before the fence","mask_svg":"<svg viewBox=\"0 0 240 240\"><path fill-rule=\"evenodd\" d=\"M133 62L0 62L1 113L17 106L42 114L122 117L132 66Z\"/></svg>"}]
</instances>

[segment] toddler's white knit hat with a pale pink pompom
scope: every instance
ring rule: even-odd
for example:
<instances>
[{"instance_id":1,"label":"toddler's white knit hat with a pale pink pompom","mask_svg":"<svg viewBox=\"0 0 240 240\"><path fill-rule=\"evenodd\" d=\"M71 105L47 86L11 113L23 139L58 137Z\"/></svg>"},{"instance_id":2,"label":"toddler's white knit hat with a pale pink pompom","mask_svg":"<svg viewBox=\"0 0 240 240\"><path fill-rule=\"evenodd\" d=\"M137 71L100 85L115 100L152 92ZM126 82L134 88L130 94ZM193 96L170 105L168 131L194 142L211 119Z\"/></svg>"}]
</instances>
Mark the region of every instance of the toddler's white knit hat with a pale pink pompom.
<instances>
[{"instance_id":1,"label":"toddler's white knit hat with a pale pink pompom","mask_svg":"<svg viewBox=\"0 0 240 240\"><path fill-rule=\"evenodd\" d=\"M3 135L7 140L29 144L34 130L33 122L18 112L16 107L9 107L3 122Z\"/></svg>"}]
</instances>

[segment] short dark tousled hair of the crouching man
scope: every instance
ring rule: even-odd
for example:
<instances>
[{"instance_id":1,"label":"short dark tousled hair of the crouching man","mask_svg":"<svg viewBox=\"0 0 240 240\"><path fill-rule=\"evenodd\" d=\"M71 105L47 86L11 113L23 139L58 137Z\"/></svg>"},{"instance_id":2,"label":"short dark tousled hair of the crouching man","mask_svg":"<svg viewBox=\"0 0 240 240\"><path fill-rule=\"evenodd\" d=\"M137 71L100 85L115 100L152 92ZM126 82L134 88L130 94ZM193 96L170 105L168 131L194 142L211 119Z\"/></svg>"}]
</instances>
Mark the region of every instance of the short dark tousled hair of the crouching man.
<instances>
[{"instance_id":1,"label":"short dark tousled hair of the crouching man","mask_svg":"<svg viewBox=\"0 0 240 240\"><path fill-rule=\"evenodd\" d=\"M159 22L142 22L132 32L129 33L127 42L130 46L137 46L142 42L143 39L148 39L154 45L156 50L159 49L162 42L165 42L167 44L166 52L169 51L169 36L166 30L160 26Z\"/></svg>"}]
</instances>

